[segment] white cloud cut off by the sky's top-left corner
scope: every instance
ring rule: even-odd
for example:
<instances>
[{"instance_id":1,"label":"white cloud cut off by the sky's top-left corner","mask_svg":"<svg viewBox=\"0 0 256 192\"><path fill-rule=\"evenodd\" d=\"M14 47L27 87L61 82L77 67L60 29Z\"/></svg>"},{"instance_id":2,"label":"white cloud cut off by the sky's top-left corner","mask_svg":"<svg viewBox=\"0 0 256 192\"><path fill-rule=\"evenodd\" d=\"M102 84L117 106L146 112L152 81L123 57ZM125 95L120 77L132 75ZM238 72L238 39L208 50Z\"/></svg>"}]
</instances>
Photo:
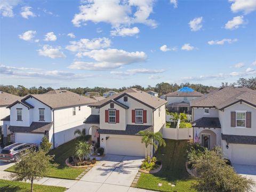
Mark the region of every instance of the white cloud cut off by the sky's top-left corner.
<instances>
[{"instance_id":1,"label":"white cloud cut off by the sky's top-left corner","mask_svg":"<svg viewBox=\"0 0 256 192\"><path fill-rule=\"evenodd\" d=\"M0 12L3 17L13 17L13 7L18 5L20 0L1 0L0 1Z\"/></svg>"}]
</instances>

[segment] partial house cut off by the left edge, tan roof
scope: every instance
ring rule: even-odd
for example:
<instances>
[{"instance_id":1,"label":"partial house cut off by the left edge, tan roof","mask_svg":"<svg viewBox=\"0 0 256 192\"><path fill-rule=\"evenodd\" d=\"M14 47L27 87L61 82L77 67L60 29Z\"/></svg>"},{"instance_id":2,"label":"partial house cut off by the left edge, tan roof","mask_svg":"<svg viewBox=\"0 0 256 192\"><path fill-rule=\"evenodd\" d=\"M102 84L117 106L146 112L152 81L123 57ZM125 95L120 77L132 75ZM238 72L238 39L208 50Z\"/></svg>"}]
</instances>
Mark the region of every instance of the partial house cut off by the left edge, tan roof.
<instances>
[{"instance_id":1,"label":"partial house cut off by the left edge, tan roof","mask_svg":"<svg viewBox=\"0 0 256 192\"><path fill-rule=\"evenodd\" d=\"M0 133L3 132L3 134L5 134L5 135L9 134L9 132L4 132L4 131L6 131L6 129L5 130L3 129L3 120L8 119L8 118L10 119L10 110L7 109L6 107L11 105L11 103L13 103L14 101L17 101L19 99L21 99L21 97L19 97L17 95L13 95L10 93L0 91L0 119L1 119ZM0 137L1 137L1 135L0 135ZM6 140L6 138L4 138L4 140Z\"/></svg>"}]
</instances>

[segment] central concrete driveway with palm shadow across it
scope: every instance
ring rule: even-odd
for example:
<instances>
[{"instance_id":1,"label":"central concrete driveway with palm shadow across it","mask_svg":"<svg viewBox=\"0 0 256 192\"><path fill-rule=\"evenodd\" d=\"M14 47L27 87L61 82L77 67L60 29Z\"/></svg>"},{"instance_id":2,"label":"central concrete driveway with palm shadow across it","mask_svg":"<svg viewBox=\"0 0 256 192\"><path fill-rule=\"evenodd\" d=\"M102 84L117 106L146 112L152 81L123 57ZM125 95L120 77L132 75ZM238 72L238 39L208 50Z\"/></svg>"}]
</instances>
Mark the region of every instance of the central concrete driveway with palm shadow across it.
<instances>
[{"instance_id":1,"label":"central concrete driveway with palm shadow across it","mask_svg":"<svg viewBox=\"0 0 256 192\"><path fill-rule=\"evenodd\" d=\"M147 191L131 188L143 157L106 155L68 191Z\"/></svg>"}]
</instances>

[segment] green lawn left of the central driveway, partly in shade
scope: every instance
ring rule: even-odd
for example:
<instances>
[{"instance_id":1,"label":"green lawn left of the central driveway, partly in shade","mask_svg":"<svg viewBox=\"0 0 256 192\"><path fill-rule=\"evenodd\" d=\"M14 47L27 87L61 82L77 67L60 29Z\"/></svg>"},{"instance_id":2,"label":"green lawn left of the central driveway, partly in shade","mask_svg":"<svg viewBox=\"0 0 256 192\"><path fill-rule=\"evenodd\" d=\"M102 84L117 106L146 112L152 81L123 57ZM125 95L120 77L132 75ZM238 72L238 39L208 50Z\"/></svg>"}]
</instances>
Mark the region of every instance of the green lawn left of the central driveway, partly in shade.
<instances>
[{"instance_id":1,"label":"green lawn left of the central driveway, partly in shade","mask_svg":"<svg viewBox=\"0 0 256 192\"><path fill-rule=\"evenodd\" d=\"M57 167L52 166L47 177L76 179L77 176L85 170L85 168L71 168L65 163L66 159L73 155L75 151L75 143L76 140L74 139L50 151L51 155L55 155L55 163L58 163L59 165ZM14 166L9 167L5 171L14 172Z\"/></svg>"}]
</instances>

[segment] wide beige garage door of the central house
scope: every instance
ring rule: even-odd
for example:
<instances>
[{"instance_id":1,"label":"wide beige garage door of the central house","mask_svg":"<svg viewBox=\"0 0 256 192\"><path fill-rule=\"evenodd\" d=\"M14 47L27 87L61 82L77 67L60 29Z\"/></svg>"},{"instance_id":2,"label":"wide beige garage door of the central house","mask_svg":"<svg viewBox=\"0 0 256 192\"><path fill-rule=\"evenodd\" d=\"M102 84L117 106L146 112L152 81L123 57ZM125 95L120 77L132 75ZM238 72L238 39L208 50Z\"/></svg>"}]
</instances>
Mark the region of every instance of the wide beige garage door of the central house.
<instances>
[{"instance_id":1,"label":"wide beige garage door of the central house","mask_svg":"<svg viewBox=\"0 0 256 192\"><path fill-rule=\"evenodd\" d=\"M107 140L107 154L145 157L146 147L141 137L111 138Z\"/></svg>"}]
</instances>

